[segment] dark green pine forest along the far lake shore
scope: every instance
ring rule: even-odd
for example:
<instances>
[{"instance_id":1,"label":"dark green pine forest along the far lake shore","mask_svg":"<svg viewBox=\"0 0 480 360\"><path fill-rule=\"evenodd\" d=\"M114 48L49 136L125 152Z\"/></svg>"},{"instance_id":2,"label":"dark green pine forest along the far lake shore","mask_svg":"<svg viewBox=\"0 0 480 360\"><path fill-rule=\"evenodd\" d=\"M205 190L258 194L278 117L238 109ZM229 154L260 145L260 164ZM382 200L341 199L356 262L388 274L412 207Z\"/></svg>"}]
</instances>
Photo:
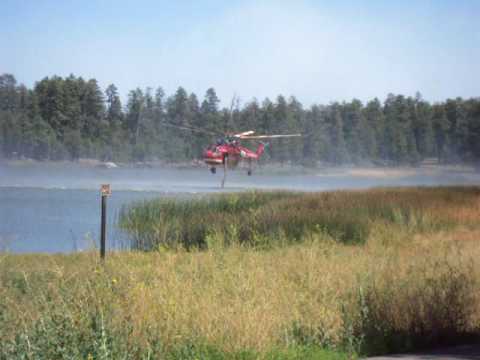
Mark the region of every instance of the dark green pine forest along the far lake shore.
<instances>
[{"instance_id":1,"label":"dark green pine forest along the far lake shore","mask_svg":"<svg viewBox=\"0 0 480 360\"><path fill-rule=\"evenodd\" d=\"M0 76L0 158L185 162L201 157L210 132L302 133L271 142L266 159L278 163L416 165L480 159L480 98L431 104L389 94L373 99L312 105L295 98L256 99L220 108L213 88L201 98L179 87L137 88L122 104L118 89L70 75L38 81L33 89ZM252 144L254 145L254 144Z\"/></svg>"}]
</instances>

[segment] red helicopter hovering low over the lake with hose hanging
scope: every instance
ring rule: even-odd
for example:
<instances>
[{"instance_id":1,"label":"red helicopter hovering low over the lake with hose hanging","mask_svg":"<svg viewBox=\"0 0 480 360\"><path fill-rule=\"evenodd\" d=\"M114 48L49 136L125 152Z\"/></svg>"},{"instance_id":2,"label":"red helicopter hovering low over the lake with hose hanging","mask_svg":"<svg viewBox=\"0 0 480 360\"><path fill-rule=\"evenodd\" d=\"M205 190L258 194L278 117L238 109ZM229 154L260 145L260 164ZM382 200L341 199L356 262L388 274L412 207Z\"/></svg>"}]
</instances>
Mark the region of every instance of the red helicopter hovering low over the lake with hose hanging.
<instances>
[{"instance_id":1,"label":"red helicopter hovering low over the lake with hose hanging","mask_svg":"<svg viewBox=\"0 0 480 360\"><path fill-rule=\"evenodd\" d=\"M189 130L193 132L206 133L210 135L217 135L210 131L187 127L173 125L170 123L163 123L165 126L175 127L182 130ZM203 151L203 161L210 168L212 174L217 173L217 167L223 168L223 179L221 187L225 186L225 181L227 178L228 169L235 169L241 162L246 162L248 164L247 175L251 176L253 173L253 164L260 159L262 154L265 151L265 148L268 146L268 143L263 142L265 139L278 139L278 138L294 138L301 137L302 134L279 134L279 135L254 135L255 131L249 130L244 131L238 134L224 134L214 144L209 145ZM260 140L257 149L251 150L240 144L240 140Z\"/></svg>"}]
</instances>

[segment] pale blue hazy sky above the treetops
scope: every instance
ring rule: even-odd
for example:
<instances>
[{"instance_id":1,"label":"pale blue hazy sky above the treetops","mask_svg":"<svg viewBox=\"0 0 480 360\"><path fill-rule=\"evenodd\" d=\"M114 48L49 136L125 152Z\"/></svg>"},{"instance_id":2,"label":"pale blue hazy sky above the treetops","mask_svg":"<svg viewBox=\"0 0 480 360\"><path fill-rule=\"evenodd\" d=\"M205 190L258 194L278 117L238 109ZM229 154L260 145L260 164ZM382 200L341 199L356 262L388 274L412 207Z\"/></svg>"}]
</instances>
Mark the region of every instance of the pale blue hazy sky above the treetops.
<instances>
[{"instance_id":1,"label":"pale blue hazy sky above the treetops","mask_svg":"<svg viewBox=\"0 0 480 360\"><path fill-rule=\"evenodd\" d=\"M0 73L179 86L222 104L480 96L477 0L2 0Z\"/></svg>"}]
</instances>

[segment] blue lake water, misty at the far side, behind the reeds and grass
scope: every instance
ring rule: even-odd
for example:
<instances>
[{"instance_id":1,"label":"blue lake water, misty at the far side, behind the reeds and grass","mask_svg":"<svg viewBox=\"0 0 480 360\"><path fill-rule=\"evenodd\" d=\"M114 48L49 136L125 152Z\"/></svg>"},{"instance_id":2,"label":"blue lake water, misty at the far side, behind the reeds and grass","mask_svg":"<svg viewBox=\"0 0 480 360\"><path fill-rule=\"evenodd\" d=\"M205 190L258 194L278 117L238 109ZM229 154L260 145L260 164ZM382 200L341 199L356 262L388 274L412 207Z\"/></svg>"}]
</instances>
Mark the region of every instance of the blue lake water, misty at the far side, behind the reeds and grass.
<instances>
[{"instance_id":1,"label":"blue lake water, misty at the far side, behind the reeds and grass","mask_svg":"<svg viewBox=\"0 0 480 360\"><path fill-rule=\"evenodd\" d=\"M221 173L207 169L97 169L74 165L0 165L0 251L71 252L98 244L102 183L110 183L108 233L110 247L128 246L116 227L122 205L155 197L197 196L220 191L289 189L323 191L374 186L480 184L471 171L364 174L355 171L266 174L251 177L230 172L224 190Z\"/></svg>"}]
</instances>

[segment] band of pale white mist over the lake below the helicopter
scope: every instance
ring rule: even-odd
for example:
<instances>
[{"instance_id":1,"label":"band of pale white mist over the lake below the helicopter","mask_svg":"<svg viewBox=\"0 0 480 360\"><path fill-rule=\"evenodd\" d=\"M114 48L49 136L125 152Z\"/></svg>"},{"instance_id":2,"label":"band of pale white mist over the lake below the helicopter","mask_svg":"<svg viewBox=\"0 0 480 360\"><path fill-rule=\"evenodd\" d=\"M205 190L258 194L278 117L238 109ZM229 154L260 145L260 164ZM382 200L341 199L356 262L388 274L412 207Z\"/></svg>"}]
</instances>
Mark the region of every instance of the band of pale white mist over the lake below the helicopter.
<instances>
[{"instance_id":1,"label":"band of pale white mist over the lake below the helicopter","mask_svg":"<svg viewBox=\"0 0 480 360\"><path fill-rule=\"evenodd\" d=\"M75 164L33 163L0 165L0 187L40 189L98 190L109 183L123 191L158 191L166 193L197 193L239 191L249 189L284 189L324 191L358 189L377 186L434 186L480 184L480 174L467 168L420 169L302 169L258 168L252 176L245 169L229 171L225 189L220 189L223 171L211 174L201 168L114 168L78 166Z\"/></svg>"}]
</instances>

